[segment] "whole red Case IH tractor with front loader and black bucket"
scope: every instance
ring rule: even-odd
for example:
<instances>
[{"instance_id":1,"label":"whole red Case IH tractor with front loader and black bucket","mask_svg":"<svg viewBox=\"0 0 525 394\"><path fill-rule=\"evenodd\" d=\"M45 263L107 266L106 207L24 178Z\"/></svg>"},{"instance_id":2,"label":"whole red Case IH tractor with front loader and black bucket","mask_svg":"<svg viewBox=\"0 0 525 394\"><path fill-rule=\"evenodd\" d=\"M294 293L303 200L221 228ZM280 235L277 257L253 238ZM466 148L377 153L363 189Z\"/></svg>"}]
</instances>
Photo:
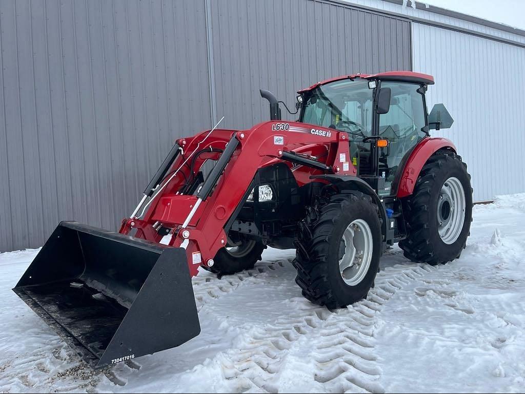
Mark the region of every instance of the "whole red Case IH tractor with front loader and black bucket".
<instances>
[{"instance_id":1,"label":"whole red Case IH tractor with front loader and black bucket","mask_svg":"<svg viewBox=\"0 0 525 394\"><path fill-rule=\"evenodd\" d=\"M427 114L433 83L407 71L318 82L298 92L296 122L261 91L270 121L178 139L119 233L61 222L14 291L101 367L198 335L197 268L249 269L267 246L297 250L302 294L328 308L366 297L396 242L415 262L453 260L472 193L453 143L429 136L452 123L442 104Z\"/></svg>"}]
</instances>

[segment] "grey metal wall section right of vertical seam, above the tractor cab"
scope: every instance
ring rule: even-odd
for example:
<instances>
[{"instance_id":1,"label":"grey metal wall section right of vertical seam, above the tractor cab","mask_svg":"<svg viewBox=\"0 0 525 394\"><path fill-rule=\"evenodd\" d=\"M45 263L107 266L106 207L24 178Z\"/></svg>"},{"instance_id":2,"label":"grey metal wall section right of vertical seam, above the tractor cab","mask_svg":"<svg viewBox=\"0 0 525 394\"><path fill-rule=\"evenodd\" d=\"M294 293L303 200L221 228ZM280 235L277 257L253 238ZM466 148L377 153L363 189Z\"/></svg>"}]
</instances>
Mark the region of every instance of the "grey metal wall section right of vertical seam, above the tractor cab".
<instances>
[{"instance_id":1,"label":"grey metal wall section right of vertical seam, above the tractor cab","mask_svg":"<svg viewBox=\"0 0 525 394\"><path fill-rule=\"evenodd\" d=\"M211 22L217 117L228 127L268 119L259 88L293 109L295 92L318 80L411 69L408 22L341 4L213 1Z\"/></svg>"}]
</instances>

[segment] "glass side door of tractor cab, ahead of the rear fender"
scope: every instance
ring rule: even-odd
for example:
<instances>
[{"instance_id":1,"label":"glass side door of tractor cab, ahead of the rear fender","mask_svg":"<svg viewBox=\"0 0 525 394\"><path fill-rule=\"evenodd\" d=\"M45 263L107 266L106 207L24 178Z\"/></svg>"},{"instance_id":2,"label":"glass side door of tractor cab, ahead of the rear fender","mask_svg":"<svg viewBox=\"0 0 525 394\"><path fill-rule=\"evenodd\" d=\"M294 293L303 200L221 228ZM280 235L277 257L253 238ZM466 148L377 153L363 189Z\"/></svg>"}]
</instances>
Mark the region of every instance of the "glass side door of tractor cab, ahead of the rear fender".
<instances>
[{"instance_id":1,"label":"glass side door of tractor cab, ahead of the rear fender","mask_svg":"<svg viewBox=\"0 0 525 394\"><path fill-rule=\"evenodd\" d=\"M392 183L402 171L403 157L427 136L426 108L419 84L382 81L381 88L391 89L390 109L379 115L377 129L380 138L388 141L386 147L377 147L377 171L385 179L380 194L387 196L393 193Z\"/></svg>"}]
</instances>

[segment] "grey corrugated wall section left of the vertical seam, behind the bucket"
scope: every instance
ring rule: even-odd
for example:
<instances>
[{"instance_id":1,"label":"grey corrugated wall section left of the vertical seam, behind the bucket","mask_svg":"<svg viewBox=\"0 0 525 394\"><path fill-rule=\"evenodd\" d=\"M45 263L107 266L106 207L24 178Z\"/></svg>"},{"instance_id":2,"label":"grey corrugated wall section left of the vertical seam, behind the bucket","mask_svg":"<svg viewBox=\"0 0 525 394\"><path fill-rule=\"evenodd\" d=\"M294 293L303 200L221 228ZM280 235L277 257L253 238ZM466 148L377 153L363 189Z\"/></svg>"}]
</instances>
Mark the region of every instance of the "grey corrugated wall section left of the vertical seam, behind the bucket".
<instances>
[{"instance_id":1,"label":"grey corrugated wall section left of the vertical seam, behind the bucket","mask_svg":"<svg viewBox=\"0 0 525 394\"><path fill-rule=\"evenodd\" d=\"M173 140L211 124L204 1L0 2L0 250L116 229Z\"/></svg>"}]
</instances>

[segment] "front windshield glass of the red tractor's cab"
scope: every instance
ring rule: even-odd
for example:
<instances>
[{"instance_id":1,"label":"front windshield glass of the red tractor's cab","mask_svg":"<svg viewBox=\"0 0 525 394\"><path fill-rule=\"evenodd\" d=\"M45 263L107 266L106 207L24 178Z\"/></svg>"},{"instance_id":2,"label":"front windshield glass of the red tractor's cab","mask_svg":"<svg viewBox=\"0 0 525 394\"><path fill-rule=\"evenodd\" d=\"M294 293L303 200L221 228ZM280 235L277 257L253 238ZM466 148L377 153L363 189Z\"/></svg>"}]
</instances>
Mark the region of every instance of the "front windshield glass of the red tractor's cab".
<instances>
[{"instance_id":1,"label":"front windshield glass of the red tractor's cab","mask_svg":"<svg viewBox=\"0 0 525 394\"><path fill-rule=\"evenodd\" d=\"M344 79L305 94L300 122L332 127L354 137L372 135L372 89L368 81Z\"/></svg>"}]
</instances>

